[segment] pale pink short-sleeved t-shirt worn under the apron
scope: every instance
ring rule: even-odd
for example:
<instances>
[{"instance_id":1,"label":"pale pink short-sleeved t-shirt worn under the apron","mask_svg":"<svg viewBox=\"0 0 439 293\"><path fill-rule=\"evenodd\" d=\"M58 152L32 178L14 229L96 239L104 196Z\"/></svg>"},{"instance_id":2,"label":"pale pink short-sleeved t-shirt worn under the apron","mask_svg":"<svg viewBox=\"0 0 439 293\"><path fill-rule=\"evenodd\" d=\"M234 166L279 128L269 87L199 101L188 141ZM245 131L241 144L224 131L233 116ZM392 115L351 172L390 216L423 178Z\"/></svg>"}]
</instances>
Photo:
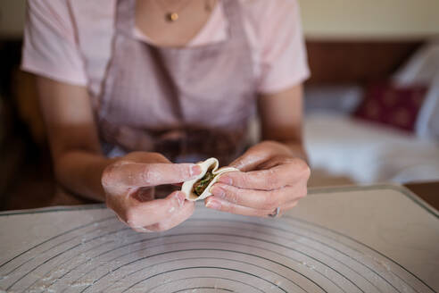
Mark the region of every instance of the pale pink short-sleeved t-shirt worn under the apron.
<instances>
[{"instance_id":1,"label":"pale pink short-sleeved t-shirt worn under the apron","mask_svg":"<svg viewBox=\"0 0 439 293\"><path fill-rule=\"evenodd\" d=\"M117 0L29 0L21 68L38 75L86 86L97 96L112 58ZM296 0L237 0L260 93L274 93L310 75ZM134 35L152 41L138 29ZM221 1L203 29L186 46L228 38Z\"/></svg>"}]
</instances>

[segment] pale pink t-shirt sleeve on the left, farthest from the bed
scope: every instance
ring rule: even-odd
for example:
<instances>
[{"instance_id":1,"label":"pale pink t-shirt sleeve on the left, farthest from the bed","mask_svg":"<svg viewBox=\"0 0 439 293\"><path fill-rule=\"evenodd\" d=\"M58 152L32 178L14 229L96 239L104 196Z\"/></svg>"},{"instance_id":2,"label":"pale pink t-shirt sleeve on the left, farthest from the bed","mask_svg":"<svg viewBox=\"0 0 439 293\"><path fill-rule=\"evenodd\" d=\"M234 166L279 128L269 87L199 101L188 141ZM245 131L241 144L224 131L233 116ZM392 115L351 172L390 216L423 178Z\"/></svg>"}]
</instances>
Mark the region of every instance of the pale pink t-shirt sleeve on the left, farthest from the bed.
<instances>
[{"instance_id":1,"label":"pale pink t-shirt sleeve on the left, farthest from the bed","mask_svg":"<svg viewBox=\"0 0 439 293\"><path fill-rule=\"evenodd\" d=\"M87 75L66 0L28 0L21 69L86 86Z\"/></svg>"}]
</instances>

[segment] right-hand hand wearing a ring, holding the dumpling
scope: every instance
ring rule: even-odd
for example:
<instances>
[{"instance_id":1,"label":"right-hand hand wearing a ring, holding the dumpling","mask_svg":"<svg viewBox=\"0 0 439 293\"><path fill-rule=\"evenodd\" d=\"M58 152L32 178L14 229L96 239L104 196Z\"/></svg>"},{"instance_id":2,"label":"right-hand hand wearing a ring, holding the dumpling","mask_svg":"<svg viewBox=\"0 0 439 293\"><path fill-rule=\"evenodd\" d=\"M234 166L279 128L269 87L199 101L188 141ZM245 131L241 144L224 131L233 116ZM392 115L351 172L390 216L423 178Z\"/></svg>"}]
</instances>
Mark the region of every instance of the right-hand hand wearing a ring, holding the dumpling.
<instances>
[{"instance_id":1,"label":"right-hand hand wearing a ring, holding the dumpling","mask_svg":"<svg viewBox=\"0 0 439 293\"><path fill-rule=\"evenodd\" d=\"M205 199L207 207L243 215L266 217L297 205L307 194L308 164L286 145L264 141L230 164L240 172L219 177Z\"/></svg>"}]
</instances>

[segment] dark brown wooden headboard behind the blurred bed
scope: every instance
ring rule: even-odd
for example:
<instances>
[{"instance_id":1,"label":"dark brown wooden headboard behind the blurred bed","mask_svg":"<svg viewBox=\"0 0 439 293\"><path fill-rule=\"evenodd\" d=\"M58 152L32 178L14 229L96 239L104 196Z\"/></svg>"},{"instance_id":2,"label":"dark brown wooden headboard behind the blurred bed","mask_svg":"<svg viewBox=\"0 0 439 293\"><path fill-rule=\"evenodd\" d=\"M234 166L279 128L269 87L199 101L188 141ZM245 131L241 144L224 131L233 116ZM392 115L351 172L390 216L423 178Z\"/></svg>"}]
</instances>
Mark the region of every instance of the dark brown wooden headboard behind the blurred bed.
<instances>
[{"instance_id":1,"label":"dark brown wooden headboard behind the blurred bed","mask_svg":"<svg viewBox=\"0 0 439 293\"><path fill-rule=\"evenodd\" d=\"M306 42L311 79L308 84L360 83L391 76L422 41Z\"/></svg>"}]
</instances>

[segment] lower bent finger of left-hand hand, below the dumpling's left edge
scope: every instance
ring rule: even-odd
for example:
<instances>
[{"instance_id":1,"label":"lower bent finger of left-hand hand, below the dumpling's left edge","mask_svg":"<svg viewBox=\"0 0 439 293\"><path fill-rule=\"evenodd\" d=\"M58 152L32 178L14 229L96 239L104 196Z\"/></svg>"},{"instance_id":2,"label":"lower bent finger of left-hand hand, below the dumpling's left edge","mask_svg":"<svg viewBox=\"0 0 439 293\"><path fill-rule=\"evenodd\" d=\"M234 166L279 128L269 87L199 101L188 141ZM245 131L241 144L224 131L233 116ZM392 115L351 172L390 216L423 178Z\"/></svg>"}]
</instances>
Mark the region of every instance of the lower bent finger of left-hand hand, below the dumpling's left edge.
<instances>
[{"instance_id":1,"label":"lower bent finger of left-hand hand, below the dumpling's left edge","mask_svg":"<svg viewBox=\"0 0 439 293\"><path fill-rule=\"evenodd\" d=\"M176 191L168 197L139 203L132 198L123 213L119 213L123 222L131 228L151 226L157 222L168 220L172 214L185 207L186 195Z\"/></svg>"}]
</instances>

